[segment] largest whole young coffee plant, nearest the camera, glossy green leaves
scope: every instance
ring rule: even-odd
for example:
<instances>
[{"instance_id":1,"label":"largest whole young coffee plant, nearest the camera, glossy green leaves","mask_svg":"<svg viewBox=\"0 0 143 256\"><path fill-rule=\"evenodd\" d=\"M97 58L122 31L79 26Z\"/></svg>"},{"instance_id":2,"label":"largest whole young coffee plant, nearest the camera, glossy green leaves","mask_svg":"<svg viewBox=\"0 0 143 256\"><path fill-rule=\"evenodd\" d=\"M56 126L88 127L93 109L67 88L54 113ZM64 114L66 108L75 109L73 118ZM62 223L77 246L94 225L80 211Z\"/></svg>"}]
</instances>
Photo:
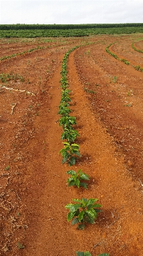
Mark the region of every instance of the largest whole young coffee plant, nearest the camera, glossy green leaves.
<instances>
[{"instance_id":1,"label":"largest whole young coffee plant, nearest the camera, glossy green leaves","mask_svg":"<svg viewBox=\"0 0 143 256\"><path fill-rule=\"evenodd\" d=\"M65 206L70 212L67 215L67 220L72 220L72 225L79 223L78 228L84 229L85 223L94 224L94 220L97 217L97 213L101 212L100 208L102 205L95 204L98 199L96 198L82 198L80 199L73 199L73 202L76 204L67 204Z\"/></svg>"}]
</instances>

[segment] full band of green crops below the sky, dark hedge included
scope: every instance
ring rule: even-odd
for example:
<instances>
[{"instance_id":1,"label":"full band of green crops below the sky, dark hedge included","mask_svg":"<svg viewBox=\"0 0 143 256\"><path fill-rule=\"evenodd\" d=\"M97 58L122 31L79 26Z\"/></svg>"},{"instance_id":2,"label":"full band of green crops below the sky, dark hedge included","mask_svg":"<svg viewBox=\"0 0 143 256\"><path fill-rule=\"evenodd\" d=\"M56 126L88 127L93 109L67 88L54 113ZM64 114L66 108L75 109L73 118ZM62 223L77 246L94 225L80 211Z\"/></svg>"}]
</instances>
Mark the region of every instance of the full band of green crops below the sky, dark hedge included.
<instances>
[{"instance_id":1,"label":"full band of green crops below the sky, dark hedge included","mask_svg":"<svg viewBox=\"0 0 143 256\"><path fill-rule=\"evenodd\" d=\"M123 24L1 24L1 38L89 36L142 33L142 23Z\"/></svg>"}]
</instances>

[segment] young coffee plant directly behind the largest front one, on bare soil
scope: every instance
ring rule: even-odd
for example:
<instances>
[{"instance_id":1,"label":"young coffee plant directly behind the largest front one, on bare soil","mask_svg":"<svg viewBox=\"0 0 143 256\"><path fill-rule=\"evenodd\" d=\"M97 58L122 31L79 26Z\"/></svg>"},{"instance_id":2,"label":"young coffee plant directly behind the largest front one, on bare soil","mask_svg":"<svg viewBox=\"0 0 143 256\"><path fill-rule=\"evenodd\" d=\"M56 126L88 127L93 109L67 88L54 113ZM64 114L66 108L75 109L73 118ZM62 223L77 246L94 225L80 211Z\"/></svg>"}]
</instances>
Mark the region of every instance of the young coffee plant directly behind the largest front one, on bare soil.
<instances>
[{"instance_id":1,"label":"young coffee plant directly behind the largest front one, on bare soil","mask_svg":"<svg viewBox=\"0 0 143 256\"><path fill-rule=\"evenodd\" d=\"M75 172L73 170L69 170L66 173L71 175L71 177L68 178L68 180L67 180L69 187L70 186L77 186L77 188L79 188L79 187L87 188L87 183L86 182L81 182L80 180L89 180L89 175L82 172L81 169L78 172Z\"/></svg>"}]
</instances>

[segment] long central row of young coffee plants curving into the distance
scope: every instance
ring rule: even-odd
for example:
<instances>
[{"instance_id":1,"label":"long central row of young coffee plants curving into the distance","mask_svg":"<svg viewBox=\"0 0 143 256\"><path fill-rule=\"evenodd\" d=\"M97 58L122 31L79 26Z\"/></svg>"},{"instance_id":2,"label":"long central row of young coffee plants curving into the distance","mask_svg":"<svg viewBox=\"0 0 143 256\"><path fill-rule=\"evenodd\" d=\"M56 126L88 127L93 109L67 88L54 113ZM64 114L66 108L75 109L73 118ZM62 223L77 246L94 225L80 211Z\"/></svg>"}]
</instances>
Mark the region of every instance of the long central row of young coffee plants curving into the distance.
<instances>
[{"instance_id":1,"label":"long central row of young coffee plants curving into the distance","mask_svg":"<svg viewBox=\"0 0 143 256\"><path fill-rule=\"evenodd\" d=\"M77 49L77 47L73 47L73 49L66 52L63 58L63 65L61 70L61 102L59 104L59 125L63 126L63 133L61 134L61 140L64 140L62 148L59 151L59 154L63 157L62 164L67 163L69 166L73 166L77 159L80 157L79 145L75 143L75 140L79 136L79 132L75 130L74 125L77 124L75 116L71 116L72 112L70 109L71 91L68 88L67 81L67 61L70 52ZM87 189L87 180L89 180L89 175L82 172L82 170L78 170L75 172L74 170L68 170L66 172L70 177L67 180L68 186L76 186L79 188L82 186ZM93 224L95 219L97 218L98 212L100 212L100 208L102 205L97 204L97 198L81 198L72 199L73 204L66 204L65 208L68 209L67 221L72 221L72 225L77 225L77 228L80 230L84 230L86 227L86 223ZM91 256L89 252L76 252L77 256ZM109 253L102 253L98 256L109 256Z\"/></svg>"}]
</instances>

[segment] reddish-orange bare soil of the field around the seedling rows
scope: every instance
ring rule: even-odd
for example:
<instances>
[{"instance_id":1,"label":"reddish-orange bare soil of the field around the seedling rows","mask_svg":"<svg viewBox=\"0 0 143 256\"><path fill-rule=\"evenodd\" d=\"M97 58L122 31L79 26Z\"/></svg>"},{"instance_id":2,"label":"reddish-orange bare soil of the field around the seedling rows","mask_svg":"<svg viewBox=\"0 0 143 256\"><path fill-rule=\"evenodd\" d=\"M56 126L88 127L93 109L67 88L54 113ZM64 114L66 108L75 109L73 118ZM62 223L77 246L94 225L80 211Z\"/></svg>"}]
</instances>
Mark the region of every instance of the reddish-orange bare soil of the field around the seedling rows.
<instances>
[{"instance_id":1,"label":"reddish-orange bare soil of the field around the seedling rows","mask_svg":"<svg viewBox=\"0 0 143 256\"><path fill-rule=\"evenodd\" d=\"M1 38L0 58L43 49L0 63L0 255L143 255L143 73L133 67L143 67L143 54L132 48L134 42L143 51L142 40L142 34ZM110 56L109 44L130 65ZM82 46L69 55L68 84L82 157L69 167L61 164L57 113L63 57L76 45ZM66 172L79 169L91 177L88 189L67 185ZM66 220L64 206L73 198L102 204L84 230Z\"/></svg>"}]
</instances>

